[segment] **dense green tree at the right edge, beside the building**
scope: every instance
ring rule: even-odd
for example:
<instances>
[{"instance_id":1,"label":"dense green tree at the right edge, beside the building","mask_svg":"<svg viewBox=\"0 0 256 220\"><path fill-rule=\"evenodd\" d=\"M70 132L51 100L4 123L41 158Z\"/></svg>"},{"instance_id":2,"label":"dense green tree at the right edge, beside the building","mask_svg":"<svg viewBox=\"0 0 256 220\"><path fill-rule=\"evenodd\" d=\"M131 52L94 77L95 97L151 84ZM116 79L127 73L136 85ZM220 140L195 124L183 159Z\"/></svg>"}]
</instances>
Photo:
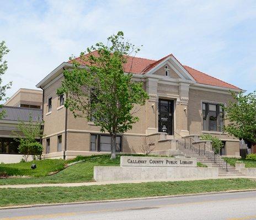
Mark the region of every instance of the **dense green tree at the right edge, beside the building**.
<instances>
[{"instance_id":1,"label":"dense green tree at the right edge, beside the building","mask_svg":"<svg viewBox=\"0 0 256 220\"><path fill-rule=\"evenodd\" d=\"M225 107L228 123L223 130L239 139L256 143L256 91L237 96L231 92L234 101Z\"/></svg>"}]
</instances>

